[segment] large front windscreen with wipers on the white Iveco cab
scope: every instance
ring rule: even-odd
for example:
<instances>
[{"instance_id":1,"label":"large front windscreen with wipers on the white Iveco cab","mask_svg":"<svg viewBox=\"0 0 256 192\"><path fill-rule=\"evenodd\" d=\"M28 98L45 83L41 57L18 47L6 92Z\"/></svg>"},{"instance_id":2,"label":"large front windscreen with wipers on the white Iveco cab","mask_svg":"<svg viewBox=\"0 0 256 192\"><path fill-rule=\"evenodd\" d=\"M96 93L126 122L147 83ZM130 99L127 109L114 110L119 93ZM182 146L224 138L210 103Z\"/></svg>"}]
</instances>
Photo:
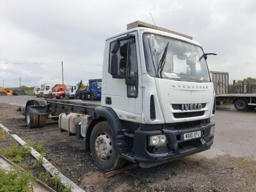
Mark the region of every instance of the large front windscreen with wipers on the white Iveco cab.
<instances>
[{"instance_id":1,"label":"large front windscreen with wipers on the white Iveco cab","mask_svg":"<svg viewBox=\"0 0 256 192\"><path fill-rule=\"evenodd\" d=\"M143 35L143 46L150 76L177 81L210 81L201 47L150 33Z\"/></svg>"}]
</instances>

